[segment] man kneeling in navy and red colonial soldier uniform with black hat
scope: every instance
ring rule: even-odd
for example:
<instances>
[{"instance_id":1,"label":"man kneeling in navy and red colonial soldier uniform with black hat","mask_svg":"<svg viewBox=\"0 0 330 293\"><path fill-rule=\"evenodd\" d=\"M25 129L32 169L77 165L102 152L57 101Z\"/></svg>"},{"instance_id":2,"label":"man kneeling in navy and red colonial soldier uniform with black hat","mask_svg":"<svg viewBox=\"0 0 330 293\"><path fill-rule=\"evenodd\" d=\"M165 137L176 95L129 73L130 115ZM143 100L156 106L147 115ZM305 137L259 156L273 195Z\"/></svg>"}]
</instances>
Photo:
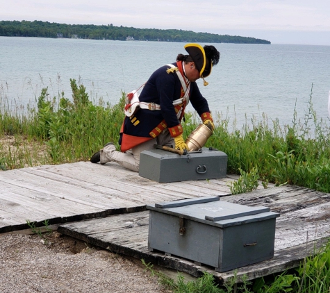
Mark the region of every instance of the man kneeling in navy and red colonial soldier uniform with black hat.
<instances>
[{"instance_id":1,"label":"man kneeling in navy and red colonial soldier uniform with black hat","mask_svg":"<svg viewBox=\"0 0 330 293\"><path fill-rule=\"evenodd\" d=\"M176 149L188 149L183 140L181 119L188 103L192 103L204 124L214 128L208 102L199 92L195 80L211 74L220 53L213 46L201 47L187 44L189 55L179 54L175 63L160 67L154 72L142 91L127 95L126 117L120 130L120 151L108 143L94 153L91 162L117 162L138 171L140 153L160 144ZM204 85L207 85L204 80Z\"/></svg>"}]
</instances>

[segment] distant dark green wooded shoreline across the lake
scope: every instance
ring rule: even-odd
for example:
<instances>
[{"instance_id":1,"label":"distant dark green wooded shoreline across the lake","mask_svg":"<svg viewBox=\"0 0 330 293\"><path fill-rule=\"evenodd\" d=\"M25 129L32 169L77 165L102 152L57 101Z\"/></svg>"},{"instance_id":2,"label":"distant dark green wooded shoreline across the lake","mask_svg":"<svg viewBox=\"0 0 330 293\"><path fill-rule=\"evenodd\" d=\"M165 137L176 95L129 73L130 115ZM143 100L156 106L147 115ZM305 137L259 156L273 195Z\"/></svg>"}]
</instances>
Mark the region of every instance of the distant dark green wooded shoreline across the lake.
<instances>
[{"instance_id":1,"label":"distant dark green wooded shoreline across the lake","mask_svg":"<svg viewBox=\"0 0 330 293\"><path fill-rule=\"evenodd\" d=\"M57 24L35 20L0 21L0 35L7 37L78 37L92 40L140 40L162 42L212 42L235 44L270 44L270 41L238 35L195 33L176 29L95 26L94 24Z\"/></svg>"}]
</instances>

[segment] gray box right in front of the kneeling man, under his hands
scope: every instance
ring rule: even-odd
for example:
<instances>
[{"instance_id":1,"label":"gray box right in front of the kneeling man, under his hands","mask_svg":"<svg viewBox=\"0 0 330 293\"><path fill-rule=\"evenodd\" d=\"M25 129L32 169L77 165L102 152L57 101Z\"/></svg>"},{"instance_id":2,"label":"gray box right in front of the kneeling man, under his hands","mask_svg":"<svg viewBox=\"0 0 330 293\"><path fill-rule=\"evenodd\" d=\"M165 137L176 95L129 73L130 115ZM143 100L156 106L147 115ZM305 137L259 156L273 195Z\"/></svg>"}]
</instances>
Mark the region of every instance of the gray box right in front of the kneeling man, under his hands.
<instances>
[{"instance_id":1,"label":"gray box right in front of the kneeling man, under his hands","mask_svg":"<svg viewBox=\"0 0 330 293\"><path fill-rule=\"evenodd\" d=\"M224 178L227 160L226 153L208 148L184 156L161 149L142 151L139 175L157 182Z\"/></svg>"}]
</instances>

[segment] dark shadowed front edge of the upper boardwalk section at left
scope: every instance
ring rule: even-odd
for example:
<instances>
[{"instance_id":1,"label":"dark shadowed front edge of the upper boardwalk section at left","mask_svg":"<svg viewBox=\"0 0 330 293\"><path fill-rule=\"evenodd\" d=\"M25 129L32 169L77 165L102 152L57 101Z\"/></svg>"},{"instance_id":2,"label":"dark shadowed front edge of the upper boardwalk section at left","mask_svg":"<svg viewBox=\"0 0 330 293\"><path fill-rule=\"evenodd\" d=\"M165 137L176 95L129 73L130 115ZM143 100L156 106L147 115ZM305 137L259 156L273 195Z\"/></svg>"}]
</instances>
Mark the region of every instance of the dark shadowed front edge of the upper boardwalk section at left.
<instances>
[{"instance_id":1,"label":"dark shadowed front edge of the upper boardwalk section at left","mask_svg":"<svg viewBox=\"0 0 330 293\"><path fill-rule=\"evenodd\" d=\"M44 227L44 221L48 221L49 225L58 225L58 224L66 224L73 221L82 221L86 219L97 219L104 218L111 215L119 215L119 214L128 214L131 212L143 212L146 210L146 205L143 206L135 206L131 208L111 208L108 210L100 210L98 212L90 212L88 214L81 215L72 215L67 217L54 217L51 219L44 219L42 221L32 221L36 228ZM17 224L10 226L0 227L0 234L10 233L20 230L26 230L31 228L28 224Z\"/></svg>"}]
</instances>

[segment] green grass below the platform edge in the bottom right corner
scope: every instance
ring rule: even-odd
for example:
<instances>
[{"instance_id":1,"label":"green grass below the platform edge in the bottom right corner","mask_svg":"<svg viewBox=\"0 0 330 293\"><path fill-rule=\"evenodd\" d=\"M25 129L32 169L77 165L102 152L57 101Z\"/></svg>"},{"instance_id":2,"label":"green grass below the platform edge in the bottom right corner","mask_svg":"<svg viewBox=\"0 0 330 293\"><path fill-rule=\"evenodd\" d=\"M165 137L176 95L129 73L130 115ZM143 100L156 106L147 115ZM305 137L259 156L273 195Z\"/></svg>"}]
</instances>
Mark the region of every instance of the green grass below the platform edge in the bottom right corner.
<instances>
[{"instance_id":1,"label":"green grass below the platform edge in the bottom right corner","mask_svg":"<svg viewBox=\"0 0 330 293\"><path fill-rule=\"evenodd\" d=\"M165 274L154 269L153 265L144 260L146 270L152 276L157 276L160 284L174 293L329 293L330 292L330 241L315 256L306 257L300 267L284 271L281 274L273 274L254 281L247 281L243 276L238 282L237 276L233 276L225 283L215 283L211 274L204 273L196 281L185 281L181 274L176 280L172 280Z\"/></svg>"}]
</instances>

